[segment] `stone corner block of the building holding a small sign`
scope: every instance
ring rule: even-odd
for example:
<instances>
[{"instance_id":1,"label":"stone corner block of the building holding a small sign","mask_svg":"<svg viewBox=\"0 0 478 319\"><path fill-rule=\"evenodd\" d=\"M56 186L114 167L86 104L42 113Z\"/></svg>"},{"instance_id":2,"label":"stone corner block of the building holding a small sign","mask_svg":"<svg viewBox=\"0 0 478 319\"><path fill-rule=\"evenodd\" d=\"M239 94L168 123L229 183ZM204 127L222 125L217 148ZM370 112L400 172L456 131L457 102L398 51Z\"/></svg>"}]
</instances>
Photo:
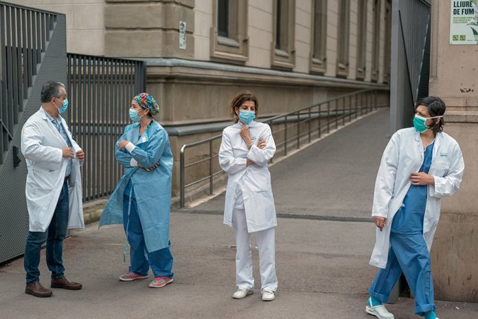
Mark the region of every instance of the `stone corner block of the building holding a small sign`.
<instances>
[{"instance_id":1,"label":"stone corner block of the building holding a small sign","mask_svg":"<svg viewBox=\"0 0 478 319\"><path fill-rule=\"evenodd\" d=\"M179 23L186 48L179 48ZM105 56L194 58L194 0L106 0Z\"/></svg>"}]
</instances>

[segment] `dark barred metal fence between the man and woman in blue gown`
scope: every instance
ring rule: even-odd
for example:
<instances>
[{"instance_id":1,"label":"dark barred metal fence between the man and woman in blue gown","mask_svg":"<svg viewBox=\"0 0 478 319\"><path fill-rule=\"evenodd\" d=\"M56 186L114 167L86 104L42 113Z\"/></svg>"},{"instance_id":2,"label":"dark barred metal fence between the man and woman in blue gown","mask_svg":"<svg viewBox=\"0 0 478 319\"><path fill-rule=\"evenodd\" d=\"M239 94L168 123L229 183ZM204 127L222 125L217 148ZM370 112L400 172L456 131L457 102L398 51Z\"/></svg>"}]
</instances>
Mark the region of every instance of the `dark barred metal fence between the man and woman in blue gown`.
<instances>
[{"instance_id":1,"label":"dark barred metal fence between the man and woman in blue gown","mask_svg":"<svg viewBox=\"0 0 478 319\"><path fill-rule=\"evenodd\" d=\"M142 61L68 54L70 129L86 156L83 201L110 195L120 180L115 143L130 124L131 99L145 89Z\"/></svg>"}]
</instances>

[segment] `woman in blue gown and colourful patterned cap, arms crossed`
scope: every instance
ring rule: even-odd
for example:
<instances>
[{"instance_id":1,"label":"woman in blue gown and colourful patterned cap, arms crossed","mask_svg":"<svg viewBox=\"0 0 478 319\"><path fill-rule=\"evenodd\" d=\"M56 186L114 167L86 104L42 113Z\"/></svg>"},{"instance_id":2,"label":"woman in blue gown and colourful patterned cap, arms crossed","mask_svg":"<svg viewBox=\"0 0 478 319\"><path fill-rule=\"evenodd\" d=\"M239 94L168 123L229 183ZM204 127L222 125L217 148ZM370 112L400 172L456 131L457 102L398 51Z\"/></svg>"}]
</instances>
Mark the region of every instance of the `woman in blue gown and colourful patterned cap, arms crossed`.
<instances>
[{"instance_id":1,"label":"woman in blue gown and colourful patterned cap, arms crossed","mask_svg":"<svg viewBox=\"0 0 478 319\"><path fill-rule=\"evenodd\" d=\"M126 126L115 151L124 175L100 220L100 226L124 226L130 266L120 281L148 278L151 268L155 276L151 288L168 285L173 277L169 240L173 160L168 133L152 118L158 113L159 105L150 94L138 94L131 101L133 124Z\"/></svg>"}]
</instances>

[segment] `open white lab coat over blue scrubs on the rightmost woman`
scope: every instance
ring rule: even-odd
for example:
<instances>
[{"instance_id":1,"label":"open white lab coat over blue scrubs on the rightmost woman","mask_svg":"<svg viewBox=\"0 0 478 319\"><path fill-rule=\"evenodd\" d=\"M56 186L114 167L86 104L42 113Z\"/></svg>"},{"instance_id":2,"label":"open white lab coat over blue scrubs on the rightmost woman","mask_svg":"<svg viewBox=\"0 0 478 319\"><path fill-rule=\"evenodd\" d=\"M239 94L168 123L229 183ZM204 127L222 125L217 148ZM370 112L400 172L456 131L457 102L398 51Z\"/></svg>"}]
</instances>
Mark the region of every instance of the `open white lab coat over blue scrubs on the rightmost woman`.
<instances>
[{"instance_id":1,"label":"open white lab coat over blue scrubs on the rightmost woman","mask_svg":"<svg viewBox=\"0 0 478 319\"><path fill-rule=\"evenodd\" d=\"M391 223L411 186L411 173L418 173L423 158L422 139L413 127L397 131L383 152L375 183L372 216L386 217L387 222L383 231L376 228L371 265L387 266ZM429 170L429 175L435 177L435 185L428 186L423 222L423 236L428 250L440 219L441 199L458 190L463 171L463 155L458 143L446 133L437 133Z\"/></svg>"}]
</instances>

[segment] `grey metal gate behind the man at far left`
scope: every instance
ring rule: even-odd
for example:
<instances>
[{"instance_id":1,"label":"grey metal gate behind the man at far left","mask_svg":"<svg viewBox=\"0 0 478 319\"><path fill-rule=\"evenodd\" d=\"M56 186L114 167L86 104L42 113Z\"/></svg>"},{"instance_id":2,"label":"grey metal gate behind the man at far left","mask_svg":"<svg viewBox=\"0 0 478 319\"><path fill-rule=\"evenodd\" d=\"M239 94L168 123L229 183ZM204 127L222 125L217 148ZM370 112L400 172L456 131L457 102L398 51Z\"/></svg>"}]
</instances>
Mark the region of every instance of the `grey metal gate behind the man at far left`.
<instances>
[{"instance_id":1,"label":"grey metal gate behind the man at far left","mask_svg":"<svg viewBox=\"0 0 478 319\"><path fill-rule=\"evenodd\" d=\"M27 167L21 127L41 105L43 83L67 80L64 14L0 2L0 263L23 254Z\"/></svg>"}]
</instances>

